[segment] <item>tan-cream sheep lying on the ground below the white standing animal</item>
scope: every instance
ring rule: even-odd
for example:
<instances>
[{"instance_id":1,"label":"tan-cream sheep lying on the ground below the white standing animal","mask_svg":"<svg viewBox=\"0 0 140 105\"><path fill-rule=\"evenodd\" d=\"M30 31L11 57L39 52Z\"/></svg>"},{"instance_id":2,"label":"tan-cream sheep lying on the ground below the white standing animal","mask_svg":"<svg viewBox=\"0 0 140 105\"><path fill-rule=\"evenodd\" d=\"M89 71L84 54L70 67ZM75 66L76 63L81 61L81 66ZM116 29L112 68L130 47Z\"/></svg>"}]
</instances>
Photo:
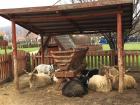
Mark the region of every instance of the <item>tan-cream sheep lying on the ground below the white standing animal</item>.
<instances>
[{"instance_id":1,"label":"tan-cream sheep lying on the ground below the white standing animal","mask_svg":"<svg viewBox=\"0 0 140 105\"><path fill-rule=\"evenodd\" d=\"M44 87L44 86L47 86L47 85L53 83L52 78L48 74L30 73L29 75L30 75L30 77L29 77L30 88Z\"/></svg>"}]
</instances>

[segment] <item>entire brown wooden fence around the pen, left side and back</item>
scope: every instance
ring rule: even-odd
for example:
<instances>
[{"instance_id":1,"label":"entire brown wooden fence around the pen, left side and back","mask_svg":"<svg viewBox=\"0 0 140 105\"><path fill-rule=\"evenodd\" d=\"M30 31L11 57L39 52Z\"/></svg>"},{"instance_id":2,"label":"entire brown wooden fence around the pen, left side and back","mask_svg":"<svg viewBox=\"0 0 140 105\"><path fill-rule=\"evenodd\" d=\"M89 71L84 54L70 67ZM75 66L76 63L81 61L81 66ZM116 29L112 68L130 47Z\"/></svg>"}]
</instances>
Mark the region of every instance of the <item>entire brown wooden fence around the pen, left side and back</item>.
<instances>
[{"instance_id":1,"label":"entire brown wooden fence around the pen, left side and back","mask_svg":"<svg viewBox=\"0 0 140 105\"><path fill-rule=\"evenodd\" d=\"M33 70L33 68L41 64L40 54L28 54L24 51L17 52L18 72L24 73L24 69ZM101 65L114 65L115 56L117 52L114 51L89 51L86 55L87 68L101 68ZM140 51L124 51L125 67L132 70L139 70L140 68ZM54 64L51 56L45 56L45 64ZM31 67L31 68L30 68ZM0 83L11 79L13 77L13 62L12 56L0 55Z\"/></svg>"}]
</instances>

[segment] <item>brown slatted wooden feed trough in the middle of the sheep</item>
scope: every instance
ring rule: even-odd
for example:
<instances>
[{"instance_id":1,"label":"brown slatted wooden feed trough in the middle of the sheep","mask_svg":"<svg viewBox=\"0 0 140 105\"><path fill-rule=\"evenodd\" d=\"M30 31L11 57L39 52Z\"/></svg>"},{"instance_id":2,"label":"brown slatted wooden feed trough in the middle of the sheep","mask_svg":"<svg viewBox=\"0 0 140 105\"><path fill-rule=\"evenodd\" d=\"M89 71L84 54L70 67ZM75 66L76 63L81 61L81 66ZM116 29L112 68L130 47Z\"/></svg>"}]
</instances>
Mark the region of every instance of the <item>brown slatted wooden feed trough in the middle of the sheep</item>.
<instances>
[{"instance_id":1,"label":"brown slatted wooden feed trough in the middle of the sheep","mask_svg":"<svg viewBox=\"0 0 140 105\"><path fill-rule=\"evenodd\" d=\"M57 78L72 78L86 68L83 62L88 48L76 48L67 51L52 51L51 55L59 71L55 73Z\"/></svg>"}]
</instances>

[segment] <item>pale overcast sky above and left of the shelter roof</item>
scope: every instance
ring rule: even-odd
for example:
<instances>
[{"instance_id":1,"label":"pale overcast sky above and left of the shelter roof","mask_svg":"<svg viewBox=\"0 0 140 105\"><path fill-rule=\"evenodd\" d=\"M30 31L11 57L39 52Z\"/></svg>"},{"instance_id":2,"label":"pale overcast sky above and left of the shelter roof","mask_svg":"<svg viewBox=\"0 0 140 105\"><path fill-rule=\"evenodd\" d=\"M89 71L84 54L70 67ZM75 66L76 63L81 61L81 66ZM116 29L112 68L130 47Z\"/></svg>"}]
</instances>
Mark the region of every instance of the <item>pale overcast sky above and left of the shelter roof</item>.
<instances>
[{"instance_id":1,"label":"pale overcast sky above and left of the shelter roof","mask_svg":"<svg viewBox=\"0 0 140 105\"><path fill-rule=\"evenodd\" d=\"M21 7L36 7L53 5L58 0L0 0L0 9L21 8ZM61 0L59 4L67 4L69 0ZM8 26L11 23L0 17L0 27Z\"/></svg>"}]
</instances>

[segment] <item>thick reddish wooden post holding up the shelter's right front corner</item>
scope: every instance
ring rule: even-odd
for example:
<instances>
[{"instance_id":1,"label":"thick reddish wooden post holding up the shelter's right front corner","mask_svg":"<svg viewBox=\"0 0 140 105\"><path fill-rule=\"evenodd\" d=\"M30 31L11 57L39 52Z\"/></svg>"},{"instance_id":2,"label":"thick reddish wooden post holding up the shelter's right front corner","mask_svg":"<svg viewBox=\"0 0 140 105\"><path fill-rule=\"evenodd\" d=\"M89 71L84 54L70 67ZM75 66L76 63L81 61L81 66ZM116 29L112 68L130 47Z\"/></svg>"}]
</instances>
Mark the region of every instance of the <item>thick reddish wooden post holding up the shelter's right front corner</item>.
<instances>
[{"instance_id":1,"label":"thick reddish wooden post holding up the shelter's right front corner","mask_svg":"<svg viewBox=\"0 0 140 105\"><path fill-rule=\"evenodd\" d=\"M123 92L124 87L124 62L123 62L123 38L122 38L122 13L117 13L117 49L118 49L118 66L119 66L119 89Z\"/></svg>"}]
</instances>

